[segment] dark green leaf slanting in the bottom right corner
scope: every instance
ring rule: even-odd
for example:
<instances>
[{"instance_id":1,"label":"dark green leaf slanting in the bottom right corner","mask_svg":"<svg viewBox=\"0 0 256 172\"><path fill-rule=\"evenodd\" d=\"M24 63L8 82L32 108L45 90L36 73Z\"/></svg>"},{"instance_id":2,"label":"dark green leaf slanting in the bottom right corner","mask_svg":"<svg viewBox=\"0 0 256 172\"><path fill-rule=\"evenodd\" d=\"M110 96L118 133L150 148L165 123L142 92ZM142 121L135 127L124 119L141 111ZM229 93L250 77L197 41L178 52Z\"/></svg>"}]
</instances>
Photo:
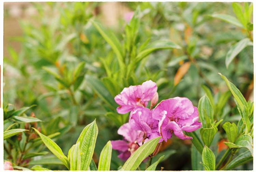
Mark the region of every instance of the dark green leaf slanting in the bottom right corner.
<instances>
[{"instance_id":1,"label":"dark green leaf slanting in the bottom right corner","mask_svg":"<svg viewBox=\"0 0 256 172\"><path fill-rule=\"evenodd\" d=\"M249 150L247 150L229 162L225 170L233 169L251 160L253 160L252 154Z\"/></svg>"}]
</instances>

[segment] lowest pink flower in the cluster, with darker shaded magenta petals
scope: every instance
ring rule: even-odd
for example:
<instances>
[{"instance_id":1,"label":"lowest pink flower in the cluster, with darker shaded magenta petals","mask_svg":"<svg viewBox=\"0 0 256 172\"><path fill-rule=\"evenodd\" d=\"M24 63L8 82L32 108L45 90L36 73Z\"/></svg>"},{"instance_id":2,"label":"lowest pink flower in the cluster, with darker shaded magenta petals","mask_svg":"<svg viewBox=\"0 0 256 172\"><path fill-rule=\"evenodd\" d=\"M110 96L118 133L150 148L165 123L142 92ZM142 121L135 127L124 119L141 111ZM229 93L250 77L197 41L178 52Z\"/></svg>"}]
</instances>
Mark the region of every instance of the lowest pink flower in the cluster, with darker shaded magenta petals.
<instances>
[{"instance_id":1,"label":"lowest pink flower in the cluster, with darker shaded magenta petals","mask_svg":"<svg viewBox=\"0 0 256 172\"><path fill-rule=\"evenodd\" d=\"M120 153L118 157L126 161L131 154L142 145L144 133L141 131L133 130L129 123L125 123L118 130L117 133L124 136L124 140L111 141L112 148L118 150ZM138 145L138 144L139 145Z\"/></svg>"}]
</instances>

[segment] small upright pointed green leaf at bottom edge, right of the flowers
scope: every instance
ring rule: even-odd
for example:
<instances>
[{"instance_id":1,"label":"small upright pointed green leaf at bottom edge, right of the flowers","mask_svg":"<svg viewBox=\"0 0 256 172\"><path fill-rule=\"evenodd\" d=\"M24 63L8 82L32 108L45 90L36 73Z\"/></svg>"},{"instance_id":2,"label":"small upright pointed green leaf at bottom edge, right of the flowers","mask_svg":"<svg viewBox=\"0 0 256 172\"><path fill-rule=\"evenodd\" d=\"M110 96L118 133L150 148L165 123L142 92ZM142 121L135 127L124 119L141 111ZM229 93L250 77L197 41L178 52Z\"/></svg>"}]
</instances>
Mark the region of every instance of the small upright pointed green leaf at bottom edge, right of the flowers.
<instances>
[{"instance_id":1,"label":"small upright pointed green leaf at bottom edge, right of the flowers","mask_svg":"<svg viewBox=\"0 0 256 172\"><path fill-rule=\"evenodd\" d=\"M203 163L209 167L209 170L215 170L215 156L209 147L204 146L202 152ZM208 170L208 169L206 169Z\"/></svg>"}]
</instances>

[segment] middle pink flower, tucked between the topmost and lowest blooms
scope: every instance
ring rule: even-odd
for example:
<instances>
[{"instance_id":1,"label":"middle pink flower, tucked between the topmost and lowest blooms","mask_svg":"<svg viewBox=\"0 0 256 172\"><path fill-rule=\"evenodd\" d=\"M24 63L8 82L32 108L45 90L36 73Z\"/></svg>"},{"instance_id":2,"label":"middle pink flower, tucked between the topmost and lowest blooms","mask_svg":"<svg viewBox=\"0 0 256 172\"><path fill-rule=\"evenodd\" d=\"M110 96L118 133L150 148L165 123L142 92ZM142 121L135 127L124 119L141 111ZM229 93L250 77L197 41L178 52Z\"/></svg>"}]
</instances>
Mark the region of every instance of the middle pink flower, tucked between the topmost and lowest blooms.
<instances>
[{"instance_id":1,"label":"middle pink flower, tucked between the topmost and lowest blooms","mask_svg":"<svg viewBox=\"0 0 256 172\"><path fill-rule=\"evenodd\" d=\"M148 108L137 107L130 113L129 124L131 128L143 131L148 139L160 136L158 122L158 120L152 118L152 111ZM162 142L162 139L159 142Z\"/></svg>"}]
</instances>

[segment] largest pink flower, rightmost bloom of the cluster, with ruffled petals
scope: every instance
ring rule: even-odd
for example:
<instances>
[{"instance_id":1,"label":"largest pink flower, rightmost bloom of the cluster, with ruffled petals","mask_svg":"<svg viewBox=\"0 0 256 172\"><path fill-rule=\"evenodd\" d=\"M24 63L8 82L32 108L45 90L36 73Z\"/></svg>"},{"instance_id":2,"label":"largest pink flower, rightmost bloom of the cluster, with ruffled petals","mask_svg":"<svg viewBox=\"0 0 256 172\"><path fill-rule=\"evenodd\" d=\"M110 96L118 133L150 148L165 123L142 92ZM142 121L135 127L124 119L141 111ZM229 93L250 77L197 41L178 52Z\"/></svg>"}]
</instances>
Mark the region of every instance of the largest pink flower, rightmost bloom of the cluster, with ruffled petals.
<instances>
[{"instance_id":1,"label":"largest pink flower, rightmost bloom of the cluster, with ruffled petals","mask_svg":"<svg viewBox=\"0 0 256 172\"><path fill-rule=\"evenodd\" d=\"M181 139L193 139L183 131L192 132L202 125L198 122L197 108L185 97L162 100L153 110L152 116L159 120L158 131L165 141L172 137L172 133Z\"/></svg>"}]
</instances>

